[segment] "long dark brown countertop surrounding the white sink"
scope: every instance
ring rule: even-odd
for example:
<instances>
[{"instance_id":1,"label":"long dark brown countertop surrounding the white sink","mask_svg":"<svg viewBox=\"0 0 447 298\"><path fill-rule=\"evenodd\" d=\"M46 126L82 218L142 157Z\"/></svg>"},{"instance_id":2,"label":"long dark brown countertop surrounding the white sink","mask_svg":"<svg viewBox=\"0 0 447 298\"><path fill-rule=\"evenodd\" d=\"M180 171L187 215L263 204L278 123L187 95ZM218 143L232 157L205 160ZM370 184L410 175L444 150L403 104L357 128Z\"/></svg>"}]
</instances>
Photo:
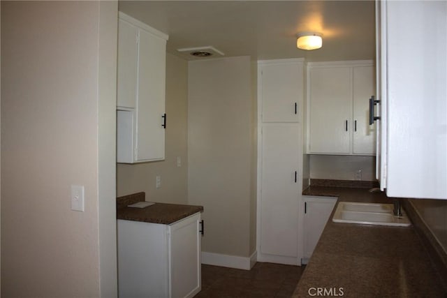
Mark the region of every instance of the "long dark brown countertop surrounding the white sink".
<instances>
[{"instance_id":1,"label":"long dark brown countertop surrounding the white sink","mask_svg":"<svg viewBox=\"0 0 447 298\"><path fill-rule=\"evenodd\" d=\"M303 195L337 196L337 202L393 202L368 188L311 186ZM447 297L413 225L333 223L332 214L293 297L316 297L318 288L332 291L326 297Z\"/></svg>"}]
</instances>

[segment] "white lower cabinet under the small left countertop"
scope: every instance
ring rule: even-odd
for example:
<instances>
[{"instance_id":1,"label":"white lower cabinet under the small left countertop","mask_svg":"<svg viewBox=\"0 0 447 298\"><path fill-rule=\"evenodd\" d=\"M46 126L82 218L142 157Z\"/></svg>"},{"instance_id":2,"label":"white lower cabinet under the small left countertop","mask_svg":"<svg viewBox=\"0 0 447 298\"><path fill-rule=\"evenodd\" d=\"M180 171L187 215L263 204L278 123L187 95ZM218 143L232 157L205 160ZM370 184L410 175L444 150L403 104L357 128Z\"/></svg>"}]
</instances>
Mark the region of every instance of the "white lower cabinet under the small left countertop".
<instances>
[{"instance_id":1,"label":"white lower cabinet under the small left countertop","mask_svg":"<svg viewBox=\"0 0 447 298\"><path fill-rule=\"evenodd\" d=\"M201 290L200 212L171 225L117 221L121 298L193 297Z\"/></svg>"}]
</instances>

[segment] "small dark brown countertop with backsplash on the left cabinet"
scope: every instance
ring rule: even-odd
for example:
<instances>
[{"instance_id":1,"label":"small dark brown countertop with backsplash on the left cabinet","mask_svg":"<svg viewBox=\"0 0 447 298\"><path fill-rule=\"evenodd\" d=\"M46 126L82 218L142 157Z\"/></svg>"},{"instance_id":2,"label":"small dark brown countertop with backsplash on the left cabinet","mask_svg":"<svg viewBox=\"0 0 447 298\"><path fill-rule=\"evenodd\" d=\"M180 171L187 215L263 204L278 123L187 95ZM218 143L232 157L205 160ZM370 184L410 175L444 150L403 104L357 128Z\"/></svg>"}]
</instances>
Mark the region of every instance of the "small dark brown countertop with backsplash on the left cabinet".
<instances>
[{"instance_id":1,"label":"small dark brown countertop with backsplash on the left cabinet","mask_svg":"<svg viewBox=\"0 0 447 298\"><path fill-rule=\"evenodd\" d=\"M117 219L170 225L197 212L203 212L202 206L159 202L145 208L127 207L129 204L144 201L145 193L135 193L117 198Z\"/></svg>"}]
</instances>

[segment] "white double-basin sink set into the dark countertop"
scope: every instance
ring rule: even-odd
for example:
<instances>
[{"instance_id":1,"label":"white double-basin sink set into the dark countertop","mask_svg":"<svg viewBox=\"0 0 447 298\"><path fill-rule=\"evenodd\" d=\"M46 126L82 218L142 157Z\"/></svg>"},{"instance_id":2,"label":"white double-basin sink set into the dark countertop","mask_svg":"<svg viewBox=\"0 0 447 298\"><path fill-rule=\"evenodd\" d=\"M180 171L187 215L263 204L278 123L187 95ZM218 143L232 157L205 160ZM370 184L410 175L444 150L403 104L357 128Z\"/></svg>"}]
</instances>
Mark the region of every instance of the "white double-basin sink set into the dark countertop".
<instances>
[{"instance_id":1,"label":"white double-basin sink set into the dark countertop","mask_svg":"<svg viewBox=\"0 0 447 298\"><path fill-rule=\"evenodd\" d=\"M393 214L393 204L374 204L361 202L339 202L335 214L335 223L359 223L364 225L389 225L408 227L409 218L402 211L402 216Z\"/></svg>"}]
</instances>

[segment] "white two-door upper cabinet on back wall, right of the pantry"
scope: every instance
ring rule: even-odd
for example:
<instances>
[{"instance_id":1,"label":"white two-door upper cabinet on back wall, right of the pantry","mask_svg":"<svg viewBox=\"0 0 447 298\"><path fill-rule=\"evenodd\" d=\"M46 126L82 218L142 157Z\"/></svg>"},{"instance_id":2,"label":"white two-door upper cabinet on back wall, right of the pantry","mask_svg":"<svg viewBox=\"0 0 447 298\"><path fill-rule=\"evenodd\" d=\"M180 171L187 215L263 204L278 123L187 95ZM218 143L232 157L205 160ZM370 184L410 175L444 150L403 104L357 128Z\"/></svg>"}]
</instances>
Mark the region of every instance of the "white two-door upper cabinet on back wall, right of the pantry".
<instances>
[{"instance_id":1,"label":"white two-door upper cabinet on back wall, right of the pantry","mask_svg":"<svg viewBox=\"0 0 447 298\"><path fill-rule=\"evenodd\" d=\"M374 155L372 61L309 63L307 78L307 153Z\"/></svg>"}]
</instances>

